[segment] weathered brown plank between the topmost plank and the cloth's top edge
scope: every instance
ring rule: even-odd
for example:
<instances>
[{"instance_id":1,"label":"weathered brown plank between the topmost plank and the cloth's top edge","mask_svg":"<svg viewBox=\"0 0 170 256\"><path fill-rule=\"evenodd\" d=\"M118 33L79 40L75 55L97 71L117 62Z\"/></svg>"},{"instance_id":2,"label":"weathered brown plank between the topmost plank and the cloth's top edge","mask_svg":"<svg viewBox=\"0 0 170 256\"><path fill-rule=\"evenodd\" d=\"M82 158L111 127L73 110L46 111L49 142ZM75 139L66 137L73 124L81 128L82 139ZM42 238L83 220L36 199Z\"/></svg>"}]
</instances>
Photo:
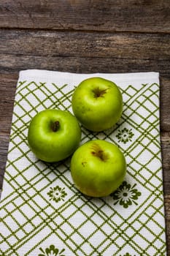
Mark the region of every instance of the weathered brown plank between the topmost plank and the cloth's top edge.
<instances>
[{"instance_id":1,"label":"weathered brown plank between the topmost plank and the cloth's top edge","mask_svg":"<svg viewBox=\"0 0 170 256\"><path fill-rule=\"evenodd\" d=\"M5 42L5 43L4 43ZM0 67L170 76L170 34L0 30Z\"/></svg>"}]
</instances>

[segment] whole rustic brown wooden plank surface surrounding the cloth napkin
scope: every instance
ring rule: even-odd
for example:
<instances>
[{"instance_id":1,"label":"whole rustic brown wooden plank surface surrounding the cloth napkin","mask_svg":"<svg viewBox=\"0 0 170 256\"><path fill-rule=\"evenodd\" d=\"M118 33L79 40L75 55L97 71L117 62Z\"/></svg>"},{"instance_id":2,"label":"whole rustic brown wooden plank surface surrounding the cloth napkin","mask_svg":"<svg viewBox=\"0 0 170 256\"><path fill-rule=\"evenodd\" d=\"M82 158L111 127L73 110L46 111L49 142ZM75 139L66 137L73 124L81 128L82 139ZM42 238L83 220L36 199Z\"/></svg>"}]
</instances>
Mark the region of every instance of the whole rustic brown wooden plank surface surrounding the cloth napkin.
<instances>
[{"instance_id":1,"label":"whole rustic brown wooden plank surface surrounding the cloth napkin","mask_svg":"<svg viewBox=\"0 0 170 256\"><path fill-rule=\"evenodd\" d=\"M160 72L170 255L170 1L0 1L0 189L20 69Z\"/></svg>"}]
</instances>

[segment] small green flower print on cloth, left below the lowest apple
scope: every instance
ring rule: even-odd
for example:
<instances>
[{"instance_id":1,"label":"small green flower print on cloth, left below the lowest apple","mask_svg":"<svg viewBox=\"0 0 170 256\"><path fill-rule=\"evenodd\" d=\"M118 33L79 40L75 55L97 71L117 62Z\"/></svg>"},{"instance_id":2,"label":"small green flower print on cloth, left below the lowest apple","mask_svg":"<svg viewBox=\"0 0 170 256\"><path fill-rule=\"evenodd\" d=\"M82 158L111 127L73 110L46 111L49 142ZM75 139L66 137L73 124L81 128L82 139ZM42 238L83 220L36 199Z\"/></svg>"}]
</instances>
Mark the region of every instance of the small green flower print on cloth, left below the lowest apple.
<instances>
[{"instance_id":1,"label":"small green flower print on cloth, left below the lowest apple","mask_svg":"<svg viewBox=\"0 0 170 256\"><path fill-rule=\"evenodd\" d=\"M59 201L64 200L63 198L67 195L64 189L65 188L61 188L59 186L50 187L50 191L47 192L47 195L49 195L50 200L58 203Z\"/></svg>"}]
</instances>

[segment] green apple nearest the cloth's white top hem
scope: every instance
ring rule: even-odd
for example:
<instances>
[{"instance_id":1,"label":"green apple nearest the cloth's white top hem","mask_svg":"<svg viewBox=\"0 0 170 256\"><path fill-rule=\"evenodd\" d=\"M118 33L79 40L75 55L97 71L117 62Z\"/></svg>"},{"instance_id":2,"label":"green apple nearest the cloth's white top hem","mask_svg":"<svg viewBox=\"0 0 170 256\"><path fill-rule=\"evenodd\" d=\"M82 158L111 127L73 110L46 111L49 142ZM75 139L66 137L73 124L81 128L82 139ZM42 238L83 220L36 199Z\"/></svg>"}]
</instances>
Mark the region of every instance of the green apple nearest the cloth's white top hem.
<instances>
[{"instance_id":1,"label":"green apple nearest the cloth's white top hem","mask_svg":"<svg viewBox=\"0 0 170 256\"><path fill-rule=\"evenodd\" d=\"M88 78L72 95L74 116L87 129L101 132L113 127L123 112L123 97L115 83L104 78Z\"/></svg>"}]
</instances>

